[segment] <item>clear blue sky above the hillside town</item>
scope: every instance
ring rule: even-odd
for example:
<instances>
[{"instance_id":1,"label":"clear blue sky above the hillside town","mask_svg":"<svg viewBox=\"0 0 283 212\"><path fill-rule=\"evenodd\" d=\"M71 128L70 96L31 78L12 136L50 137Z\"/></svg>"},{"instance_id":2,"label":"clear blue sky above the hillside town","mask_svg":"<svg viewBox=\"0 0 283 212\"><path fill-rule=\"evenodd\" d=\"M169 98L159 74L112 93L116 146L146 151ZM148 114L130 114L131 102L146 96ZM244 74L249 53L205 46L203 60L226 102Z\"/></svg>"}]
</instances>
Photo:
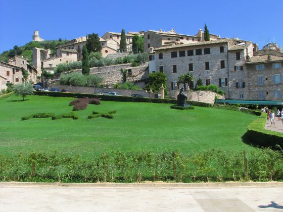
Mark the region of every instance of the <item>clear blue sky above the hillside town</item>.
<instances>
[{"instance_id":1,"label":"clear blue sky above the hillside town","mask_svg":"<svg viewBox=\"0 0 283 212\"><path fill-rule=\"evenodd\" d=\"M8 1L1 0L0 52L32 40L34 30L45 40L73 39L92 32L172 28L194 35L207 24L221 37L239 37L262 47L283 46L282 0L223 1ZM276 12L273 12L276 11Z\"/></svg>"}]
</instances>

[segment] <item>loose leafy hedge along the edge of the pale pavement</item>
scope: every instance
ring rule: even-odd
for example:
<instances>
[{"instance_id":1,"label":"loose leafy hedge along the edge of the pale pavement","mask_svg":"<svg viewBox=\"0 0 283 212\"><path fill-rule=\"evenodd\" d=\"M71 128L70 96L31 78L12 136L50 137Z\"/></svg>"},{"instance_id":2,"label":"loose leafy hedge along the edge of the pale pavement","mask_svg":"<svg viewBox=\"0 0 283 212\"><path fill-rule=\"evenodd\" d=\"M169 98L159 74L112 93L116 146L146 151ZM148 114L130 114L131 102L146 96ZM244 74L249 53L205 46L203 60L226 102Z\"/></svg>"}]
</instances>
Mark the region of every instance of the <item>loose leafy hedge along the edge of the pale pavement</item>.
<instances>
[{"instance_id":1,"label":"loose leafy hedge along the edge of the pale pavement","mask_svg":"<svg viewBox=\"0 0 283 212\"><path fill-rule=\"evenodd\" d=\"M282 152L207 150L113 151L92 155L32 152L0 155L0 181L18 182L224 182L283 180Z\"/></svg>"}]
</instances>

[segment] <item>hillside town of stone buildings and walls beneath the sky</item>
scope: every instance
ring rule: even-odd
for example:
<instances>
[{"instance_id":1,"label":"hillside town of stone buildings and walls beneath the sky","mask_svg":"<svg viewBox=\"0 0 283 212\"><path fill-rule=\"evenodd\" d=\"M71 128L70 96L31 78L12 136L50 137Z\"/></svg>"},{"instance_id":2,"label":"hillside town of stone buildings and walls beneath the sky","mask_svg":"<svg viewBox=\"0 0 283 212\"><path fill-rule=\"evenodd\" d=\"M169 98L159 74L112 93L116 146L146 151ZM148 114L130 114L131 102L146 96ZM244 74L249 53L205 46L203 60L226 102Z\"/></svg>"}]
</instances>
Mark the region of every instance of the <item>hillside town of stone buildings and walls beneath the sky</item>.
<instances>
[{"instance_id":1,"label":"hillside town of stone buildings and walls beneath the sky","mask_svg":"<svg viewBox=\"0 0 283 212\"><path fill-rule=\"evenodd\" d=\"M133 48L134 36L143 38L142 50L148 55L149 62L139 63L135 67L132 64L115 64L90 68L90 75L103 78L104 87L113 88L116 83L123 83L121 69L125 68L126 81L141 89L145 89L148 75L158 72L166 74L165 89L169 98L176 98L181 87L187 91L195 89L201 81L205 86L214 84L223 90L226 99L283 99L283 51L276 43L268 43L259 49L253 41L221 38L220 35L206 34L202 29L195 35L179 34L174 29L159 29L125 33L126 48L121 50L122 34L106 32L99 37L101 57L116 60L141 52L141 49ZM32 81L36 84L41 82L43 71L54 74L59 64L82 61L82 49L87 39L87 35L74 38L58 45L55 51L34 47L32 61L16 55L9 58L8 63L1 62L0 90L6 89L10 83ZM32 40L44 41L38 31L34 31ZM73 71L81 73L81 69ZM185 74L191 74L193 80L180 82L180 76ZM48 79L48 83L56 86L59 78L60 73L57 73ZM160 97L158 91L153 97Z\"/></svg>"}]
</instances>

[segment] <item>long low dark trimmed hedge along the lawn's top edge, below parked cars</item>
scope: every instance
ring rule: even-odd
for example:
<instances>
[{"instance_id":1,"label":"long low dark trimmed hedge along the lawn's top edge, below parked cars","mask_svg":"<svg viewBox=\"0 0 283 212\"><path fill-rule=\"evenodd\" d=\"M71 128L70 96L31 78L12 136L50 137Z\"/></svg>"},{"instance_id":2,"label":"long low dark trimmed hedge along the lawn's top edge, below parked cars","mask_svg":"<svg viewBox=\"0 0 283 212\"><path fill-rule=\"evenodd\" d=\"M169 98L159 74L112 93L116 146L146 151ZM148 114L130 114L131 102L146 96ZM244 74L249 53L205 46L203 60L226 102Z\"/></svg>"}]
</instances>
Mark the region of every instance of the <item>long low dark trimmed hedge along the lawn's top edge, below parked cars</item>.
<instances>
[{"instance_id":1,"label":"long low dark trimmed hedge along the lawn's top edge, below parked cars","mask_svg":"<svg viewBox=\"0 0 283 212\"><path fill-rule=\"evenodd\" d=\"M131 101L131 102L152 102L152 103L171 103L176 104L177 100L168 98L146 98L146 97L131 97L131 96L114 96L114 95L97 95L87 93L64 93L64 92L44 92L34 91L34 95L46 95L54 97L73 97L73 98L100 98L105 101ZM199 107L212 107L210 103L187 101L188 104Z\"/></svg>"}]
</instances>

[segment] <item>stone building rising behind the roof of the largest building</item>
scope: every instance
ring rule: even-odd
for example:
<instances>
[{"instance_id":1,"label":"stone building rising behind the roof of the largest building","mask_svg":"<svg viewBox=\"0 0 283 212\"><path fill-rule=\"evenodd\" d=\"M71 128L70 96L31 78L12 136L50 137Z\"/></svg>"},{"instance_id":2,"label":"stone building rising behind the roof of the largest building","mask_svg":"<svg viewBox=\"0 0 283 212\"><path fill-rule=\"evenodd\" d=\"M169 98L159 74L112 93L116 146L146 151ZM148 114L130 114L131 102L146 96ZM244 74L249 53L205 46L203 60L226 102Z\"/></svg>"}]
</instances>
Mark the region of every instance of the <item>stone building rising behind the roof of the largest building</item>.
<instances>
[{"instance_id":1,"label":"stone building rising behind the roof of the largest building","mask_svg":"<svg viewBox=\"0 0 283 212\"><path fill-rule=\"evenodd\" d=\"M218 40L220 36L210 34L211 40ZM172 45L172 44L187 44L187 43L196 43L204 41L204 33L202 29L196 35L185 35L179 34L174 29L170 31L159 31L148 30L144 35L145 40L145 51L151 52L152 48L158 48L162 45Z\"/></svg>"}]
</instances>

